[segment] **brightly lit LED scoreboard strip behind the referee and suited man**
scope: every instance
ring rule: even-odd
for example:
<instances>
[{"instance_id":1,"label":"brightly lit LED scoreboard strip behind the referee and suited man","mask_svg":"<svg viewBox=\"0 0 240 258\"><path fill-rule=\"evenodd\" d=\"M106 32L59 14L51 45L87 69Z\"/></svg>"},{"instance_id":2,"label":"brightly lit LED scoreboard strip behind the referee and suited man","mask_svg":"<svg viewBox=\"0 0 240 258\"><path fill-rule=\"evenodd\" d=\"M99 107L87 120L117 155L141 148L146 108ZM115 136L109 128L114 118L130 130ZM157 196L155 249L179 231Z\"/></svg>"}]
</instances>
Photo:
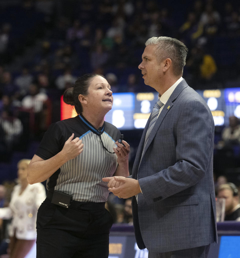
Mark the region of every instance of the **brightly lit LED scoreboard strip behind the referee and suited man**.
<instances>
[{"instance_id":1,"label":"brightly lit LED scoreboard strip behind the referee and suited man","mask_svg":"<svg viewBox=\"0 0 240 258\"><path fill-rule=\"evenodd\" d=\"M197 90L210 108L216 126L227 126L229 116L240 118L240 88ZM112 109L105 120L121 130L144 128L158 99L158 92L113 93ZM61 97L61 120L76 116L74 108Z\"/></svg>"}]
</instances>

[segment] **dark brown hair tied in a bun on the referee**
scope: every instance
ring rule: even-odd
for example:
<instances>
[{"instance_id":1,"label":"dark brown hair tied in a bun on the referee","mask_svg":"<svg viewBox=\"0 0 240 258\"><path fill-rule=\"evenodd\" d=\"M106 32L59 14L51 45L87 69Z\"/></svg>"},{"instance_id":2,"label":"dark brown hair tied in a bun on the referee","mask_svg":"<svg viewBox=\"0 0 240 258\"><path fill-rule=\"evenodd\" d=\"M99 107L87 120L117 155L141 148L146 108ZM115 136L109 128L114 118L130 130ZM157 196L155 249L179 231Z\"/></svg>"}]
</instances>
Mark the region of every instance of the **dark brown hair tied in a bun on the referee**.
<instances>
[{"instance_id":1,"label":"dark brown hair tied in a bun on the referee","mask_svg":"<svg viewBox=\"0 0 240 258\"><path fill-rule=\"evenodd\" d=\"M63 101L66 104L70 104L70 105L74 106L77 114L82 113L82 105L78 99L78 96L80 94L82 94L84 96L86 96L88 94L88 87L90 85L90 82L91 82L92 78L94 78L97 75L105 78L101 74L85 74L76 80L74 87L71 87L71 88L68 88L65 90L65 92L63 94Z\"/></svg>"}]
</instances>

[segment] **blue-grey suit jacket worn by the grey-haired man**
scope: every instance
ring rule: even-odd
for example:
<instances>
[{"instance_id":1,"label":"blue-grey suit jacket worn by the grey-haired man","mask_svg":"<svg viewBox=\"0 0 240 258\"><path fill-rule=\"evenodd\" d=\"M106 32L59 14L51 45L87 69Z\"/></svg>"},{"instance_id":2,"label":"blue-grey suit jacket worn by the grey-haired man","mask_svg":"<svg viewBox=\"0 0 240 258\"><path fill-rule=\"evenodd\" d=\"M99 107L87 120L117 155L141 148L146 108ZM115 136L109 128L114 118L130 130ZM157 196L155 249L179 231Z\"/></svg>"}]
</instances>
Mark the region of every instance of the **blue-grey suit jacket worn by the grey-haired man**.
<instances>
[{"instance_id":1,"label":"blue-grey suit jacket worn by the grey-haired man","mask_svg":"<svg viewBox=\"0 0 240 258\"><path fill-rule=\"evenodd\" d=\"M132 170L142 190L138 204L132 198L139 248L169 252L217 242L214 121L206 102L183 79L157 118L141 160L148 124Z\"/></svg>"}]
</instances>

